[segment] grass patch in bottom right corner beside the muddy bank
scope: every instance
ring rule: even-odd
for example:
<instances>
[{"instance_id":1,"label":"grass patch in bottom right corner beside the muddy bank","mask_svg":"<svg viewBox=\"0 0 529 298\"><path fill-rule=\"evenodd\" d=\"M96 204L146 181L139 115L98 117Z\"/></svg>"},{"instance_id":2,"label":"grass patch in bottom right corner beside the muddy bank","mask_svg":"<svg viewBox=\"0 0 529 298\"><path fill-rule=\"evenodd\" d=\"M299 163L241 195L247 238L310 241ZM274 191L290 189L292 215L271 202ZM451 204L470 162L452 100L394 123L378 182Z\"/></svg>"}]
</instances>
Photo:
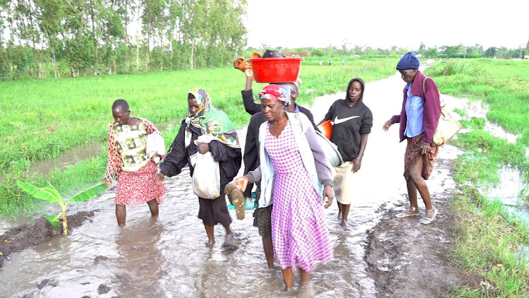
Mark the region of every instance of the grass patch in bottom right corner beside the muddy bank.
<instances>
[{"instance_id":1,"label":"grass patch in bottom right corner beside the muddy bank","mask_svg":"<svg viewBox=\"0 0 529 298\"><path fill-rule=\"evenodd\" d=\"M449 297L525 297L529 294L526 258L518 256L529 245L526 225L506 212L499 201L489 201L464 186L453 201L457 246L454 260L483 280L478 287L454 287Z\"/></svg>"}]
</instances>

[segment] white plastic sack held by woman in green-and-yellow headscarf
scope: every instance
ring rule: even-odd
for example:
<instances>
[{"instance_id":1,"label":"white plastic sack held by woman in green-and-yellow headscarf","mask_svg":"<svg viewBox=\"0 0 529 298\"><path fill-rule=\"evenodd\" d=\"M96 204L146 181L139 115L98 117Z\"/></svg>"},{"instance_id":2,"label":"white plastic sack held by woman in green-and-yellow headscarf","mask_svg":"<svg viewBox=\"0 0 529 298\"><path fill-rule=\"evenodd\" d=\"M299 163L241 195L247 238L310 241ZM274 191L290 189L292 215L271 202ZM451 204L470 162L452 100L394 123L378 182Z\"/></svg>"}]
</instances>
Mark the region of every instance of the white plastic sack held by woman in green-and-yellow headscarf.
<instances>
[{"instance_id":1,"label":"white plastic sack held by woman in green-and-yellow headscarf","mask_svg":"<svg viewBox=\"0 0 529 298\"><path fill-rule=\"evenodd\" d=\"M211 152L196 154L193 171L193 192L200 198L218 198L220 196L220 169Z\"/></svg>"}]
</instances>

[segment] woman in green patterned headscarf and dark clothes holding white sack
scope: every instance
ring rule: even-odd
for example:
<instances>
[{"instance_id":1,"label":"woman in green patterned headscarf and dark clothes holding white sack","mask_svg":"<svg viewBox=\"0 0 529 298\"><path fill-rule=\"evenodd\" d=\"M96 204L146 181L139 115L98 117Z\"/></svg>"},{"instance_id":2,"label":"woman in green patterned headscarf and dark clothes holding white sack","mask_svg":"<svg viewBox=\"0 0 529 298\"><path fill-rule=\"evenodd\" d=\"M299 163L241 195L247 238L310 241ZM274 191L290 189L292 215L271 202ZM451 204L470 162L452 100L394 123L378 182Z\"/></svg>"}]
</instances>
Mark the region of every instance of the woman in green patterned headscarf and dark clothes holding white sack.
<instances>
[{"instance_id":1,"label":"woman in green patterned headscarf and dark clothes holding white sack","mask_svg":"<svg viewBox=\"0 0 529 298\"><path fill-rule=\"evenodd\" d=\"M160 164L158 180L163 181L164 176L180 174L181 169L189 165L193 189L200 205L198 218L204 223L208 238L206 246L212 247L215 243L214 225L220 223L226 229L223 247L233 249L236 241L230 230L231 217L224 187L233 180L241 167L242 154L238 136L228 115L212 107L205 90L195 88L189 91L188 108L188 117L182 121L171 149ZM207 167L211 169L202 172L203 177L201 174L197 175ZM215 171L219 173L217 178L209 178ZM212 197L215 191L218 196Z\"/></svg>"}]
</instances>

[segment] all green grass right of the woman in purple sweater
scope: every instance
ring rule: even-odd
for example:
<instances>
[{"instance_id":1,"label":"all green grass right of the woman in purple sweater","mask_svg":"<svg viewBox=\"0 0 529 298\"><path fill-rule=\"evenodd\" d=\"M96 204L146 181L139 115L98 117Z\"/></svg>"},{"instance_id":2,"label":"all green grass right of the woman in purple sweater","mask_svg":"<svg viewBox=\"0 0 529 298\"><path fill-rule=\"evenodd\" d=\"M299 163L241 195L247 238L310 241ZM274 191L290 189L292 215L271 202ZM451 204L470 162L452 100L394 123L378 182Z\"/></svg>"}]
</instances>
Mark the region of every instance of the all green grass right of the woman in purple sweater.
<instances>
[{"instance_id":1,"label":"all green grass right of the woman in purple sweater","mask_svg":"<svg viewBox=\"0 0 529 298\"><path fill-rule=\"evenodd\" d=\"M527 256L520 250L529 246L529 229L478 188L497 184L505 166L518 169L525 184L529 181L529 61L452 59L425 73L442 93L487 103L489 121L520 135L516 143L508 143L485 131L485 119L470 118L461 124L473 131L451 141L465 151L454 168L461 191L452 201L457 239L452 259L482 283L454 287L449 297L528 297ZM527 188L521 196L527 199Z\"/></svg>"}]
</instances>

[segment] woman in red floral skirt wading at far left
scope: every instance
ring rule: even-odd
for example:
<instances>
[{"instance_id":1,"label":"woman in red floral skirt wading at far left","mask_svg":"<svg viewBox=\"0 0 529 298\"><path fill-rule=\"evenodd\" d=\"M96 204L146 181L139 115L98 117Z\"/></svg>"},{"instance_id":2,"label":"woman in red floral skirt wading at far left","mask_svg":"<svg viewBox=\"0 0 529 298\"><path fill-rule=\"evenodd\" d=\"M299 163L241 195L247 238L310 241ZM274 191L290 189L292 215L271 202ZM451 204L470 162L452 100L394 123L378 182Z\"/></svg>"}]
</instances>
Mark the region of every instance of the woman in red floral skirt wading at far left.
<instances>
[{"instance_id":1,"label":"woman in red floral skirt wading at far left","mask_svg":"<svg viewBox=\"0 0 529 298\"><path fill-rule=\"evenodd\" d=\"M146 119L130 117L126 100L116 100L112 105L114 121L109 124L109 159L103 182L111 186L118 180L116 190L116 219L125 225L126 206L147 203L151 215L158 216L158 205L167 192L164 184L158 183L158 167L154 155L147 158L147 135L162 133Z\"/></svg>"}]
</instances>

